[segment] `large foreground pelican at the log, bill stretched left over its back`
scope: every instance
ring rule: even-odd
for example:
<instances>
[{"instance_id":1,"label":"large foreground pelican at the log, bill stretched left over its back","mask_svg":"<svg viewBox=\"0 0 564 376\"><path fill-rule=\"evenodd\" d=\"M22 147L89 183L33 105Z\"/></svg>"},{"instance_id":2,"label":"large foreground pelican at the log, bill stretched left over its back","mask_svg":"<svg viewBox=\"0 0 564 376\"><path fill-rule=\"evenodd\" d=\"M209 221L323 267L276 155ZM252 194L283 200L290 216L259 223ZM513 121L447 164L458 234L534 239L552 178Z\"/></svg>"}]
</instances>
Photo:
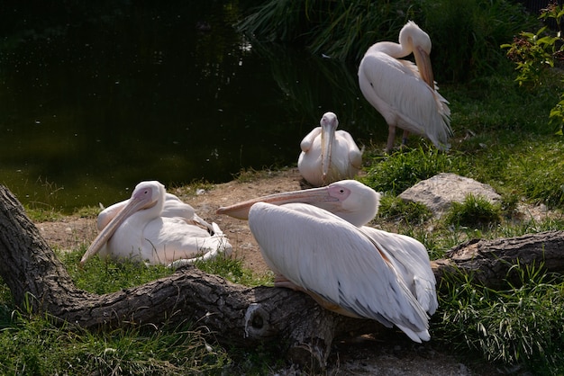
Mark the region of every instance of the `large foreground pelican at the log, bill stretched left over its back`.
<instances>
[{"instance_id":1,"label":"large foreground pelican at the log, bill stretched left over its back","mask_svg":"<svg viewBox=\"0 0 564 376\"><path fill-rule=\"evenodd\" d=\"M280 205L280 206L277 206ZM437 309L435 277L417 240L364 226L379 194L354 180L217 210L249 219L275 286L305 291L338 313L396 325L416 342Z\"/></svg>"}]
</instances>

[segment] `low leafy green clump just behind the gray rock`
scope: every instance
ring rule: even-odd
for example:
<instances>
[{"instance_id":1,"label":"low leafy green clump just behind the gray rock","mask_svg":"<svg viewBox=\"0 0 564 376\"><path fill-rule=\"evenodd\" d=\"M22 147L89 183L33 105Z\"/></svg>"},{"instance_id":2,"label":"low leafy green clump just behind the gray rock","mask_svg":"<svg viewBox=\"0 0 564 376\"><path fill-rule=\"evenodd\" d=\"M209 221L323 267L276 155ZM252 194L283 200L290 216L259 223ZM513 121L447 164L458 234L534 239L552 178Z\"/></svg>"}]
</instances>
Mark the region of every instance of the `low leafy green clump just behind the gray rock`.
<instances>
[{"instance_id":1,"label":"low leafy green clump just behind the gray rock","mask_svg":"<svg viewBox=\"0 0 564 376\"><path fill-rule=\"evenodd\" d=\"M468 166L459 158L436 148L414 148L387 157L373 157L368 173L362 177L377 192L399 194L412 185L439 173L464 175Z\"/></svg>"}]
</instances>

